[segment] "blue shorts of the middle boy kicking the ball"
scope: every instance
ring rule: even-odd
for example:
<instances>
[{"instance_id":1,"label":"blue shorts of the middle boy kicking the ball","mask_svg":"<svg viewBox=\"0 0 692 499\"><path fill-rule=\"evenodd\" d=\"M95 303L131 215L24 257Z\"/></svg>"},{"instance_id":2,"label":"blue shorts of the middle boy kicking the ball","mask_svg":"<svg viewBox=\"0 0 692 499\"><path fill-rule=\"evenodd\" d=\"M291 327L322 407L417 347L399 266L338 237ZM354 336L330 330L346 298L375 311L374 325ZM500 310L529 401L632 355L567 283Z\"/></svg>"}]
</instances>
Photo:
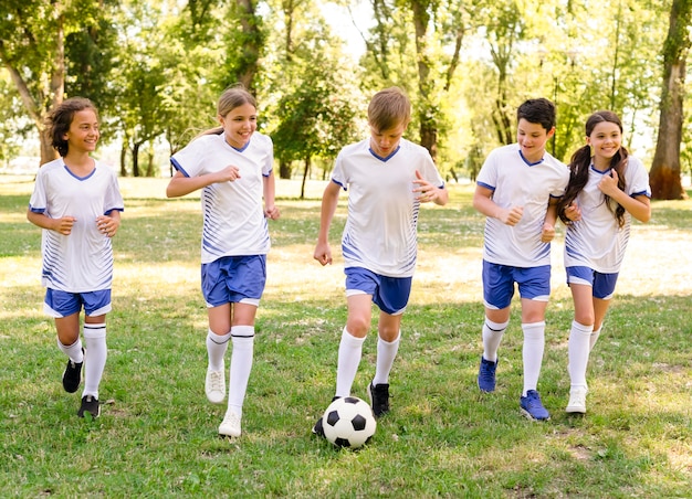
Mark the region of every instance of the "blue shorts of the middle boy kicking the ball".
<instances>
[{"instance_id":1,"label":"blue shorts of the middle boy kicking the ball","mask_svg":"<svg viewBox=\"0 0 692 499\"><path fill-rule=\"evenodd\" d=\"M390 316L403 314L411 296L412 277L387 277L363 267L348 267L346 296L370 295L373 302Z\"/></svg>"}]
</instances>

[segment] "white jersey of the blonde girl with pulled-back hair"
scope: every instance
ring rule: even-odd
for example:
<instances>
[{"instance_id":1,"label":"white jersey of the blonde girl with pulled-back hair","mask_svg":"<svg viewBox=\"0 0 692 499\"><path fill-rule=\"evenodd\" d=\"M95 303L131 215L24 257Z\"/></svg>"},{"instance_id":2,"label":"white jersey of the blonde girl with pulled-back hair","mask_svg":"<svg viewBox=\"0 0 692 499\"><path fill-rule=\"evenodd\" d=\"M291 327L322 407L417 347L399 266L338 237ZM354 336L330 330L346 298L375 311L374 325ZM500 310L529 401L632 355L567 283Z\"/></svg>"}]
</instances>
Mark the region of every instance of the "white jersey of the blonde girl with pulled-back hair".
<instances>
[{"instance_id":1,"label":"white jersey of the blonde girl with pulled-back hair","mask_svg":"<svg viewBox=\"0 0 692 499\"><path fill-rule=\"evenodd\" d=\"M238 180L202 189L202 264L222 256L269 253L262 177L272 172L271 138L255 131L243 149L235 149L227 144L223 134L203 135L176 152L170 162L186 177L217 172L229 166L240 170Z\"/></svg>"}]
</instances>

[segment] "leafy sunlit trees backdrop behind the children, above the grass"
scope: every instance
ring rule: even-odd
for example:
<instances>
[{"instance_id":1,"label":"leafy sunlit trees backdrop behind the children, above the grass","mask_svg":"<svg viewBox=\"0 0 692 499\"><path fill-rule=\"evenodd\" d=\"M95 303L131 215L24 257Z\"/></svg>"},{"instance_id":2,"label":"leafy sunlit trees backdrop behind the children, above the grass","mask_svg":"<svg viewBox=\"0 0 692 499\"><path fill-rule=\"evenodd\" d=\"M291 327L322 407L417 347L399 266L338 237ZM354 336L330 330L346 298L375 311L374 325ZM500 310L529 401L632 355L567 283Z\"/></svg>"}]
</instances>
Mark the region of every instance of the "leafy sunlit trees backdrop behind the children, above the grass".
<instances>
[{"instance_id":1,"label":"leafy sunlit trees backdrop behind the children, above the grass","mask_svg":"<svg viewBox=\"0 0 692 499\"><path fill-rule=\"evenodd\" d=\"M216 125L218 96L240 82L279 177L325 179L367 132L371 95L398 85L413 103L407 137L449 181L473 180L514 141L516 107L545 96L554 156L584 144L589 114L614 110L653 197L682 199L691 11L686 0L1 0L0 164L52 159L45 116L82 95L122 177L170 174L168 157Z\"/></svg>"}]
</instances>

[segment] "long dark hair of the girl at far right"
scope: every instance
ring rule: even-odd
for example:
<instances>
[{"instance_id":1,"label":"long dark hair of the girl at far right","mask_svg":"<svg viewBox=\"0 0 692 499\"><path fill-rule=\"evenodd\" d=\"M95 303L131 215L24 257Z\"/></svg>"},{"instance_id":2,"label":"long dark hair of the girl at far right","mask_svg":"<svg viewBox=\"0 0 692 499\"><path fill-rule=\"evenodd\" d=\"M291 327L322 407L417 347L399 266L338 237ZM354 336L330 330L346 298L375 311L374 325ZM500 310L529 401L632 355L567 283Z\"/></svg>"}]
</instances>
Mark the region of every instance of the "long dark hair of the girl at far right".
<instances>
[{"instance_id":1,"label":"long dark hair of the girl at far right","mask_svg":"<svg viewBox=\"0 0 692 499\"><path fill-rule=\"evenodd\" d=\"M622 121L620 121L618 115L610 110L598 110L589 116L586 120L586 136L590 137L596 125L604 121L616 124L620 128L620 134L622 132ZM620 149L618 149L615 156L610 159L610 168L618 173L618 188L622 191L626 187L625 170L627 169L628 157L629 152L627 151L625 146L620 145ZM577 149L576 152L572 156L572 159L569 161L569 184L567 185L565 195L563 195L563 198L557 203L557 214L564 223L569 223L569 219L565 216L565 209L569 206L569 204L577 198L579 192L581 192L581 190L586 185L586 182L588 182L590 167L591 147L589 145L586 145L580 149ZM620 227L625 225L625 208L622 208L619 203L612 201L609 195L605 195L604 202L607 203L608 209L617 219L618 225Z\"/></svg>"}]
</instances>

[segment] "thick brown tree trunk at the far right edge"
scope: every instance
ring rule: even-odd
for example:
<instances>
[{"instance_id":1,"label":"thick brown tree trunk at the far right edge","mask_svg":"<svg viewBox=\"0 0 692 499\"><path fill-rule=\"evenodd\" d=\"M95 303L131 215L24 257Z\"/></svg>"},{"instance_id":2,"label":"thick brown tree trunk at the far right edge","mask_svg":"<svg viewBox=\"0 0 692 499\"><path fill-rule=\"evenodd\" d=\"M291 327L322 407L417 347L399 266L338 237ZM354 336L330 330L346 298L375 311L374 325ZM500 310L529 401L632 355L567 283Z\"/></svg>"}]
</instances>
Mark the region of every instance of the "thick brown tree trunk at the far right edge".
<instances>
[{"instance_id":1,"label":"thick brown tree trunk at the far right edge","mask_svg":"<svg viewBox=\"0 0 692 499\"><path fill-rule=\"evenodd\" d=\"M654 199L686 199L680 170L684 81L690 51L692 0L673 0L668 38L663 45L663 86L661 92L659 136L649 184Z\"/></svg>"}]
</instances>

